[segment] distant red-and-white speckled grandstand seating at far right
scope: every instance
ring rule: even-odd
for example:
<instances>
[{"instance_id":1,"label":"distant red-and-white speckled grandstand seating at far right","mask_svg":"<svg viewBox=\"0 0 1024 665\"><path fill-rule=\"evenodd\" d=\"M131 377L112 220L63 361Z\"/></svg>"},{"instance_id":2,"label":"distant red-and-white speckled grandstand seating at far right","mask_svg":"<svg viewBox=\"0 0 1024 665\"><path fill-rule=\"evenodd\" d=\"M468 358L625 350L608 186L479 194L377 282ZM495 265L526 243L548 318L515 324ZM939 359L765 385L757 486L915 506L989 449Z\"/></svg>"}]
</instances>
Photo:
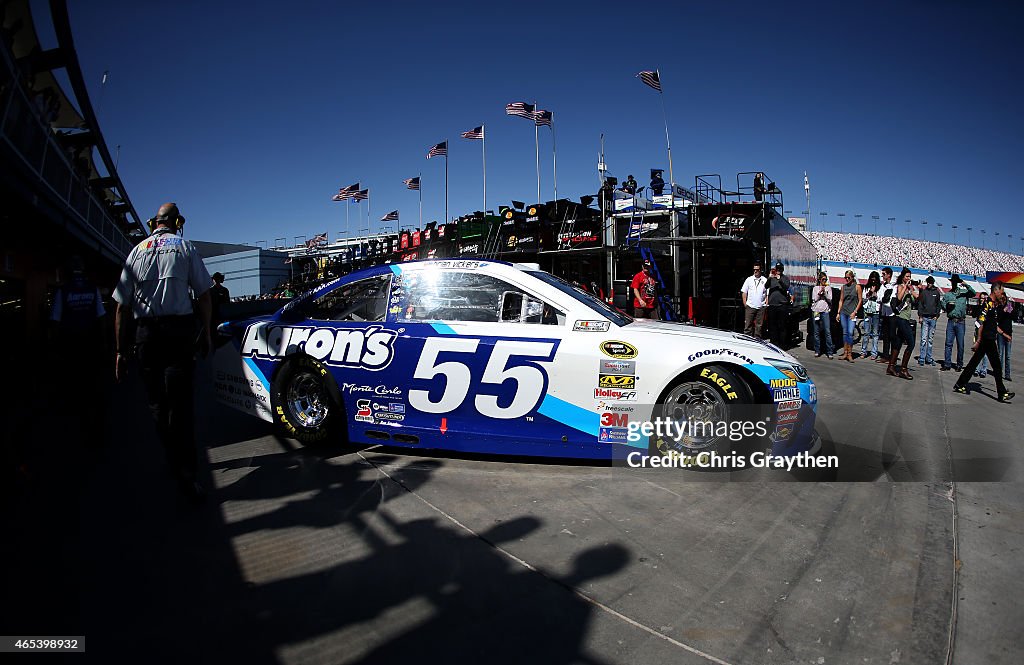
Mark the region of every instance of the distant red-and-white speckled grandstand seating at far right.
<instances>
[{"instance_id":1,"label":"distant red-and-white speckled grandstand seating at far right","mask_svg":"<svg viewBox=\"0 0 1024 665\"><path fill-rule=\"evenodd\" d=\"M974 276L975 279L981 280L984 280L986 271L1024 272L1024 256L990 249L831 231L803 233L825 261L910 265L929 271Z\"/></svg>"}]
</instances>

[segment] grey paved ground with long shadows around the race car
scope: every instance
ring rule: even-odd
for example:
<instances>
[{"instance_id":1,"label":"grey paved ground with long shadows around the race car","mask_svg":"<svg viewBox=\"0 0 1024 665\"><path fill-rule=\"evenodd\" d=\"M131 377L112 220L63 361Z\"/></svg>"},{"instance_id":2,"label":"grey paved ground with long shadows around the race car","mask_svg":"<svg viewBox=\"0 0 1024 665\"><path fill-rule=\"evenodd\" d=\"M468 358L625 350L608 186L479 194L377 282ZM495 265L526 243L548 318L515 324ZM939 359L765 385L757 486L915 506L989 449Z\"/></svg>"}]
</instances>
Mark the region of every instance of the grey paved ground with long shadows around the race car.
<instances>
[{"instance_id":1,"label":"grey paved ground with long shadows around the race car","mask_svg":"<svg viewBox=\"0 0 1024 665\"><path fill-rule=\"evenodd\" d=\"M19 433L0 632L104 663L1020 662L1022 405L793 352L838 469L309 450L201 390L194 505L114 386L103 453L62 412Z\"/></svg>"}]
</instances>

